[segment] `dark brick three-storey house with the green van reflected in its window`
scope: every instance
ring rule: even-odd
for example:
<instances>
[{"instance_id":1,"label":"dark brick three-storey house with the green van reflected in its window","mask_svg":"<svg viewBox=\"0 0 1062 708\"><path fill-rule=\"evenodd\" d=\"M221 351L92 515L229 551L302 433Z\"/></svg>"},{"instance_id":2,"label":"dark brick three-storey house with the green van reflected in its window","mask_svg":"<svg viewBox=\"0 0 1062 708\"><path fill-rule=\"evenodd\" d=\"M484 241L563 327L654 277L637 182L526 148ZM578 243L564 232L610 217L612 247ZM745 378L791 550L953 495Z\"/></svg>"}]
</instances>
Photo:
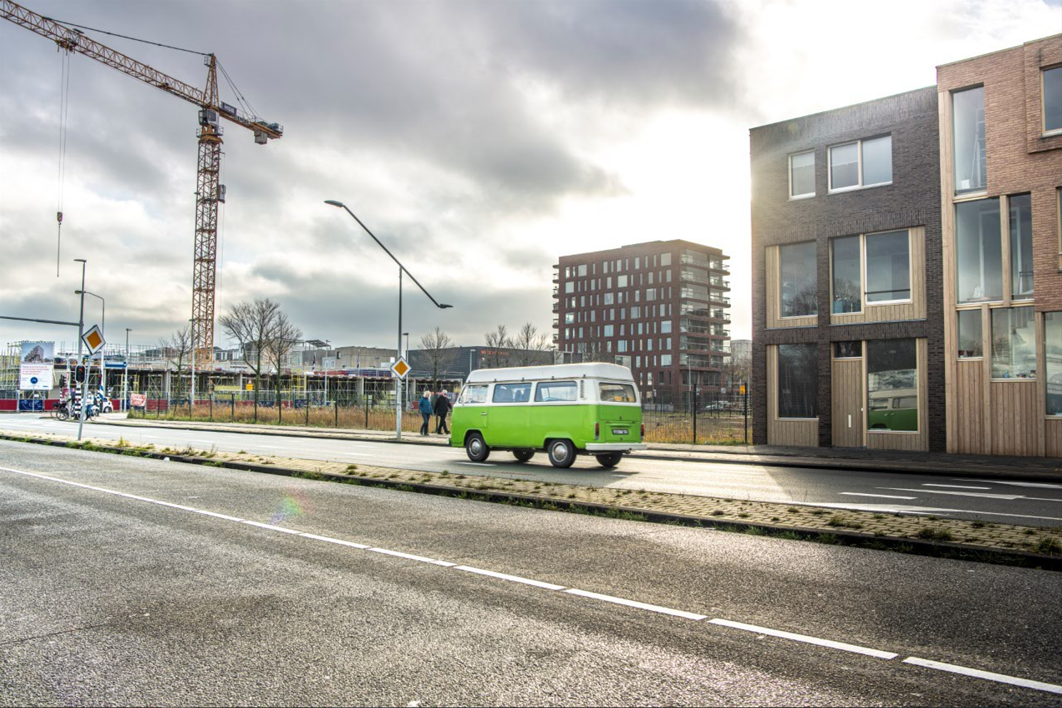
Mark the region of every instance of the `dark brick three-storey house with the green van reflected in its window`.
<instances>
[{"instance_id":1,"label":"dark brick three-storey house with the green van reflected in its window","mask_svg":"<svg viewBox=\"0 0 1062 708\"><path fill-rule=\"evenodd\" d=\"M754 443L944 446L937 90L751 131Z\"/></svg>"}]
</instances>

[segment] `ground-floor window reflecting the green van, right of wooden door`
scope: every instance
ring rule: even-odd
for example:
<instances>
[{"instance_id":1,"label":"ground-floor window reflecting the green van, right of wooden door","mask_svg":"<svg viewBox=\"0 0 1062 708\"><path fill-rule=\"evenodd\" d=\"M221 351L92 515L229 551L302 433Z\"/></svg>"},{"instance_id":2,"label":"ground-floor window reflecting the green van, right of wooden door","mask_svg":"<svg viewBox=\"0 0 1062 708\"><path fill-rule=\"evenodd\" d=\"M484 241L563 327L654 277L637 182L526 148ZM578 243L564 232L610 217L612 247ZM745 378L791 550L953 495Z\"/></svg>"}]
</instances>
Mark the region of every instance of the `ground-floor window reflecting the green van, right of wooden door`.
<instances>
[{"instance_id":1,"label":"ground-floor window reflecting the green van, right of wooden door","mask_svg":"<svg viewBox=\"0 0 1062 708\"><path fill-rule=\"evenodd\" d=\"M867 427L918 431L919 357L914 340L867 343Z\"/></svg>"}]
</instances>

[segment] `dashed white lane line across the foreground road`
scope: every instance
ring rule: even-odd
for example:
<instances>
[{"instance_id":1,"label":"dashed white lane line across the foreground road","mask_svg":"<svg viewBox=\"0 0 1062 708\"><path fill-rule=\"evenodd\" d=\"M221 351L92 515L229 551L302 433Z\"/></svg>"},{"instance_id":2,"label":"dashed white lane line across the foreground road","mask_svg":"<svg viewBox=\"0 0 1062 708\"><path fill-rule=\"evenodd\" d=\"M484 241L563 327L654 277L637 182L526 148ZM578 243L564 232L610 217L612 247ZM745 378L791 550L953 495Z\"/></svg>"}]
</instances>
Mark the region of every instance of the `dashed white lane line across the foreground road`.
<instances>
[{"instance_id":1,"label":"dashed white lane line across the foreground road","mask_svg":"<svg viewBox=\"0 0 1062 708\"><path fill-rule=\"evenodd\" d=\"M82 489L89 489L92 491L100 491L102 494L108 494L116 497L122 497L125 499L131 499L133 501L143 501L150 504L155 504L158 506L166 506L169 508L176 508L179 511L190 512L192 514L201 514L204 516L209 516L217 519L222 519L226 521L233 521L236 523L242 523L250 526L255 526L257 529L262 529L264 531L275 531L291 536L301 536L303 538L308 538L310 540L318 540L327 543L336 543L339 546L344 546L347 548L353 548L357 550L364 550L371 553L379 553L382 555L393 556L397 558L402 558L407 560L414 560L419 563L426 563L429 565L434 565L443 568L452 568L455 570L461 570L465 572L470 572L477 575L483 575L487 577L494 577L497 580L508 581L512 583L518 583L521 585L529 585L532 587L550 590L550 591L561 591L565 594L571 594L580 598L585 598L588 600L597 600L600 602L605 602L614 605L621 605L624 607L631 607L633 609L641 609L650 612L655 612L660 615L668 615L671 617L678 617L681 619L691 620L700 622L707 620L709 624L715 624L717 626L729 627L733 629L739 629L742 632L751 632L759 635L776 637L780 639L788 639L791 641L802 642L806 644L813 644L816 646L822 646L826 649L834 649L843 652L852 652L855 654L861 654L863 656L869 656L873 658L891 660L900 655L894 652L885 652L881 650L871 649L868 646L860 646L858 644L850 644L846 642L840 642L833 639L823 639L820 637L812 637L810 635L795 634L792 632L785 632L782 629L773 629L771 627L764 627L755 624L747 624L743 622L735 622L733 620L726 620L722 618L708 619L706 615L699 615L697 612L690 612L683 609L674 609L672 607L665 607L663 605L654 605L651 603L639 602L637 600L629 600L627 598L617 598L609 594L601 594L599 592L590 592L589 590L581 590L579 588L566 588L563 585L555 585L553 583L546 583L544 581L537 581L530 577L521 577L519 575L510 575L508 573L499 573L493 570L485 570L482 568L475 568L473 566L459 566L458 564L450 563L448 560L440 560L438 558L430 558L422 555L414 555L412 553L404 553L401 551L392 551L390 549L383 549L378 547L371 547L364 543L357 543L354 541L344 540L341 538L333 538L331 536L322 536L320 534L311 534L308 532L298 531L296 529L288 529L285 526L278 526L272 523L262 523L260 521L254 521L250 519L241 519L235 516L228 516L226 514L219 514L218 512L209 512L206 510L195 508L192 506L185 506L182 504L175 504L172 502L161 501L159 499L152 499L150 497L141 497L138 495L129 494L125 491L118 491L115 489L107 489L105 487L98 487L91 484L83 484L81 482L73 482L72 480L64 480L57 477L50 477L48 474L39 474L37 472L29 472L20 469L12 469L10 467L0 467L0 470L6 472L13 472L15 474L22 474L24 477L32 477L40 480L47 480L49 482L57 482L59 484L66 484L69 486L80 487ZM931 659L923 659L919 657L908 657L903 660L904 663L909 663L913 666L923 667L926 669L933 669L939 671L946 671L956 674L962 674L965 676L971 676L974 678L982 678L987 680L992 680L1001 684L1008 684L1011 686L1020 686L1023 688L1033 689L1038 691L1046 691L1050 693L1062 693L1062 686L1055 684L1047 684L1044 681L1038 681L1029 678L1022 678L1018 676L1010 676L1008 674L999 674L991 671L983 671L980 669L972 669L969 667L962 667L954 663L945 663L943 661L933 661Z\"/></svg>"}]
</instances>

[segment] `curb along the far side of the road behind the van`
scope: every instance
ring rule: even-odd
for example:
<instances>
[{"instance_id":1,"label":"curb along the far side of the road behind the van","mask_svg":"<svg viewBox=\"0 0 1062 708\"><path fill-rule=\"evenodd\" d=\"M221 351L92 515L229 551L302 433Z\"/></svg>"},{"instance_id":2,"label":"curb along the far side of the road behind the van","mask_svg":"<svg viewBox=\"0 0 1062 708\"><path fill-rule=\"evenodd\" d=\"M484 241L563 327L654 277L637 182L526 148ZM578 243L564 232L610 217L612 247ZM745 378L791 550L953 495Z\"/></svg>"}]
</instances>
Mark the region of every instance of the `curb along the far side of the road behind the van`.
<instances>
[{"instance_id":1,"label":"curb along the far side of the road behind the van","mask_svg":"<svg viewBox=\"0 0 1062 708\"><path fill-rule=\"evenodd\" d=\"M402 437L400 441L394 437L377 437L375 435L363 435L357 433L326 433L314 434L310 431L298 430L230 430L220 428L217 425L153 425L151 421L126 424L118 420L97 420L92 425L116 426L121 428L154 428L158 430L185 430L185 431L210 431L232 433L235 435L269 435L273 437L302 437L310 439L333 439L348 442L370 442L390 443L393 445L421 445L427 447L449 447L448 443L442 438L416 439L415 437ZM415 433L410 433L415 435ZM435 442L439 441L439 442ZM650 443L650 445L652 445ZM702 450L667 450L653 449L643 450L634 453L635 456L645 460L660 460L664 462L702 462L720 463L725 465L754 465L758 467L803 467L806 469L840 469L860 472L896 472L912 474L931 474L935 477L975 477L978 479L1008 479L1016 482L1043 482L1044 480L1062 482L1062 469L1052 472L1028 471L1022 469L978 469L976 467L942 467L940 464L918 464L905 463L902 461L883 460L868 463L852 457L807 457L801 455L764 454L759 455L750 452L719 452ZM757 459L750 459L757 457ZM769 457L761 460L758 457Z\"/></svg>"}]
</instances>

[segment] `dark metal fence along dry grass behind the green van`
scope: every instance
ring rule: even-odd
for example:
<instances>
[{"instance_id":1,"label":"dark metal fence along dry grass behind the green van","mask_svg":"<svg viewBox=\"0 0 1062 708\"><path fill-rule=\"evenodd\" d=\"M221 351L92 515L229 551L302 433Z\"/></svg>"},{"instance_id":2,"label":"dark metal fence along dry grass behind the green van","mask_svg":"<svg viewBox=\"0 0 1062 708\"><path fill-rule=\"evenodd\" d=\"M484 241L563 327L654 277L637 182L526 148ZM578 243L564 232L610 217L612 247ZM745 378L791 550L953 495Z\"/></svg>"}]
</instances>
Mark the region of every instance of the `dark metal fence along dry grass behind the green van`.
<instances>
[{"instance_id":1,"label":"dark metal fence along dry grass behind the green van","mask_svg":"<svg viewBox=\"0 0 1062 708\"><path fill-rule=\"evenodd\" d=\"M357 396L327 399L323 392L308 397L277 398L259 392L254 397L241 394L196 396L194 405L184 398L149 397L144 405L130 409L131 418L161 420L203 420L259 425L305 426L360 430L395 430L394 399L380 401ZM434 397L432 397L434 400ZM646 443L685 443L692 445L748 445L752 441L752 417L748 397L740 394L709 394L689 397L681 402L645 403L641 422ZM402 430L416 432L422 417L417 401L402 405ZM432 416L430 430L436 420Z\"/></svg>"}]
</instances>

